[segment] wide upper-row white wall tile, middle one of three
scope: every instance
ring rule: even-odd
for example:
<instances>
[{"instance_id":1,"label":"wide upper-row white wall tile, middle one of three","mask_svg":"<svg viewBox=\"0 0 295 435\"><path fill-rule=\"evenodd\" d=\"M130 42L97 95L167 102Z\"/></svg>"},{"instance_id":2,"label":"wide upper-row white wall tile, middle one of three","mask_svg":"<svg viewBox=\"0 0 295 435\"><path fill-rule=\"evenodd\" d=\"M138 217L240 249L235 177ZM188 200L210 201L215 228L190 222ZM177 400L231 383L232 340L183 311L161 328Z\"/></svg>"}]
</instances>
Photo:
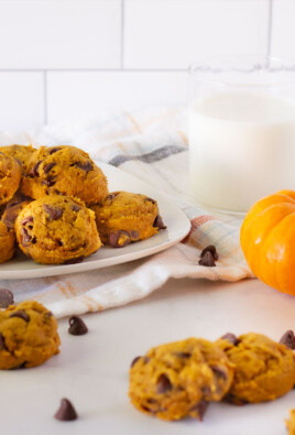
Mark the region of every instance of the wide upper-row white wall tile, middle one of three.
<instances>
[{"instance_id":1,"label":"wide upper-row white wall tile, middle one of three","mask_svg":"<svg viewBox=\"0 0 295 435\"><path fill-rule=\"evenodd\" d=\"M208 55L265 54L267 19L269 0L125 0L124 67L186 68Z\"/></svg>"}]
</instances>

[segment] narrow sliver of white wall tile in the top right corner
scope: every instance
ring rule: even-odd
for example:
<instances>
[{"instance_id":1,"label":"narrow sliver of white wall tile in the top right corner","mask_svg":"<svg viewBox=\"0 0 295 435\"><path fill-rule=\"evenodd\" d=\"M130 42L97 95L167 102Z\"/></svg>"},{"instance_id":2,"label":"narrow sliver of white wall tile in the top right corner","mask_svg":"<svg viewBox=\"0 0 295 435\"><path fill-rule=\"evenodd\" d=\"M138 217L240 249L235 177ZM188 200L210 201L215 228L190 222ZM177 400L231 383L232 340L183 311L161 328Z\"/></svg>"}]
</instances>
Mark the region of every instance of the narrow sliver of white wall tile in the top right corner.
<instances>
[{"instance_id":1,"label":"narrow sliver of white wall tile in the top right corner","mask_svg":"<svg viewBox=\"0 0 295 435\"><path fill-rule=\"evenodd\" d=\"M295 1L274 0L271 54L295 61Z\"/></svg>"}]
</instances>

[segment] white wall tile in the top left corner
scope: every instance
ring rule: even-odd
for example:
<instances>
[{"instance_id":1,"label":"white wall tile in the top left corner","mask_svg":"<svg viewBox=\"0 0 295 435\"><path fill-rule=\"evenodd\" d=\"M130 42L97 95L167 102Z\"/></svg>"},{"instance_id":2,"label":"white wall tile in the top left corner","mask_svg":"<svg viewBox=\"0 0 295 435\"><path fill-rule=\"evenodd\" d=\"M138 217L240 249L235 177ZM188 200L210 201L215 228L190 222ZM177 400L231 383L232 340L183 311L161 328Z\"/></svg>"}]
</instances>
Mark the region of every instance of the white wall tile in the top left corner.
<instances>
[{"instance_id":1,"label":"white wall tile in the top left corner","mask_svg":"<svg viewBox=\"0 0 295 435\"><path fill-rule=\"evenodd\" d=\"M118 68L120 0L0 1L1 68Z\"/></svg>"}]
</instances>

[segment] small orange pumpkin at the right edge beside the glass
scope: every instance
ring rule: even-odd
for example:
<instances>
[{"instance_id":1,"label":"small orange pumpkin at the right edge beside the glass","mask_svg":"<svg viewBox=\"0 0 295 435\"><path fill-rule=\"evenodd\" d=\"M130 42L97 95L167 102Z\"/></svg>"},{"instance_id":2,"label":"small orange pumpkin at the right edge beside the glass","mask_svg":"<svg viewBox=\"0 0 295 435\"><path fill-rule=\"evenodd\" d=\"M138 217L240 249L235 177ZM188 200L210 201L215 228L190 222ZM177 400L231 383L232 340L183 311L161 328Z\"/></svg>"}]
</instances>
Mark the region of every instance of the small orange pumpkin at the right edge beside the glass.
<instances>
[{"instance_id":1,"label":"small orange pumpkin at the right edge beside the glass","mask_svg":"<svg viewBox=\"0 0 295 435\"><path fill-rule=\"evenodd\" d=\"M295 295L294 191L280 191L255 203L243 220L240 241L254 275Z\"/></svg>"}]
</instances>

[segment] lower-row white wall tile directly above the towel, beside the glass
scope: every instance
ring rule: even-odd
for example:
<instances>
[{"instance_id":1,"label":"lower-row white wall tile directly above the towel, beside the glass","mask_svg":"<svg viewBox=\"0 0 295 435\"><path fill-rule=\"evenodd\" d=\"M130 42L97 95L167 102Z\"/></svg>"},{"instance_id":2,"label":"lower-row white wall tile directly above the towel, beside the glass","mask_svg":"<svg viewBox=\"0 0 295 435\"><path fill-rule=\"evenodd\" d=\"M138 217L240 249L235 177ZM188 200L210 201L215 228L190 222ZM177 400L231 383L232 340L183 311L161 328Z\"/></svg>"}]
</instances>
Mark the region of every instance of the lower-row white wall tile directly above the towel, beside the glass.
<instances>
[{"instance_id":1,"label":"lower-row white wall tile directly above the towel, beside the glass","mask_svg":"<svg viewBox=\"0 0 295 435\"><path fill-rule=\"evenodd\" d=\"M184 104L186 78L182 72L48 73L48 122L103 109Z\"/></svg>"}]
</instances>

